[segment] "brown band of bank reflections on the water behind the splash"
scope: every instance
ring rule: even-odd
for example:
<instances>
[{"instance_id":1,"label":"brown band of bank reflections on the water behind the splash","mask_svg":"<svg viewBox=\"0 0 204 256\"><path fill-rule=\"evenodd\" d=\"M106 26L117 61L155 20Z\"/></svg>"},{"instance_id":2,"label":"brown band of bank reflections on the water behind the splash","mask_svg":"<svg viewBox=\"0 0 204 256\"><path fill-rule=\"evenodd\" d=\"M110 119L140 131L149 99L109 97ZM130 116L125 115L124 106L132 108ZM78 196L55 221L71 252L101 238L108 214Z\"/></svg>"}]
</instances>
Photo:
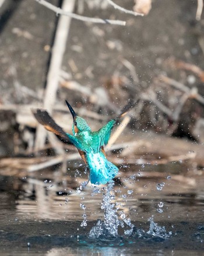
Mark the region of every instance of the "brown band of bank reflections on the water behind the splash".
<instances>
[{"instance_id":1,"label":"brown band of bank reflections on the water behind the splash","mask_svg":"<svg viewBox=\"0 0 204 256\"><path fill-rule=\"evenodd\" d=\"M117 205L119 216L133 221L147 221L152 215L156 220L203 219L203 175L154 174L148 178L145 172L136 172L126 176L114 186L112 203ZM88 184L82 189L80 185L85 180L76 180L73 184L46 178L1 177L0 212L8 213L8 218L12 212L19 220L83 220L85 214L89 221L101 219L103 186L93 190ZM3 216L0 215L0 222Z\"/></svg>"}]
</instances>

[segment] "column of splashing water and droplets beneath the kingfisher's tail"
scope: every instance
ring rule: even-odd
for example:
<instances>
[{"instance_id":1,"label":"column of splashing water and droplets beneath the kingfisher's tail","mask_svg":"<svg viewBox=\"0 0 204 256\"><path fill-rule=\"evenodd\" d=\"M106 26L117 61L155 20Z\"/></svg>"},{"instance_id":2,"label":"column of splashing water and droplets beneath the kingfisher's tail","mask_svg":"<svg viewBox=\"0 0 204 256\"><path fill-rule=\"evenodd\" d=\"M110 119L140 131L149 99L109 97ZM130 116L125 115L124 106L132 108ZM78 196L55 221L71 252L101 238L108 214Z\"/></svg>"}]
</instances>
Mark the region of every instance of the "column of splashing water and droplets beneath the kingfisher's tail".
<instances>
[{"instance_id":1,"label":"column of splashing water and droplets beneath the kingfisher's tail","mask_svg":"<svg viewBox=\"0 0 204 256\"><path fill-rule=\"evenodd\" d=\"M161 184L161 188L164 186ZM133 236L145 239L151 238L161 238L166 239L171 236L171 231L167 233L165 227L159 226L156 222L154 222L153 217L150 217L148 221L150 222L149 230L145 231L142 229L137 229L132 223L131 219L126 218L126 215L123 211L117 212L117 203L112 203L112 200L115 199L114 194L114 182L110 182L107 184L107 188L103 188L103 200L101 203L101 209L104 210L104 221L97 220L95 226L92 227L89 233L89 238L92 239L102 239L102 240L110 240L118 237L118 227L122 227L124 229L125 226L128 226L130 229L124 231L125 236ZM93 189L92 196L95 193L100 193L99 189ZM132 191L131 191L132 193ZM128 194L131 194L128 193ZM123 196L122 196L123 198ZM158 204L159 209L164 206L163 202ZM118 215L121 220L118 219Z\"/></svg>"}]
</instances>

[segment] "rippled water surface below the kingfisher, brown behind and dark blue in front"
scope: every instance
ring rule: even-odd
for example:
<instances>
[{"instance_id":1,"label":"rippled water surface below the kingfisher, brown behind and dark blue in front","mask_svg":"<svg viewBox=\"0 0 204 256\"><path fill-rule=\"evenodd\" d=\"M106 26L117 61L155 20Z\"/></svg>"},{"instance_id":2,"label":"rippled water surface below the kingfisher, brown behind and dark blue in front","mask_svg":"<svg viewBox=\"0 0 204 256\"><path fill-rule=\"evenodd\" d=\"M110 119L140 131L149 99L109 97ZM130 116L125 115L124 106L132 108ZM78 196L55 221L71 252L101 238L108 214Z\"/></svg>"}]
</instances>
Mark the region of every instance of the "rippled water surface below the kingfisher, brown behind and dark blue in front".
<instances>
[{"instance_id":1,"label":"rippled water surface below the kingfisher, brown behind and dark blue in front","mask_svg":"<svg viewBox=\"0 0 204 256\"><path fill-rule=\"evenodd\" d=\"M144 170L123 174L106 197L114 206L111 209L104 202L107 186L88 184L85 188L83 177L72 181L56 178L57 174L52 172L53 179L45 175L0 177L0 245L8 252L9 243L14 240L13 248L19 244L24 248L20 255L26 250L47 251L46 255L128 255L132 251L150 254L152 248L158 255L174 255L173 245L177 251L185 251L182 243L189 254L189 248L192 253L201 251L204 175ZM99 234L97 229L101 227L114 231L113 220L104 226L104 210L115 211L119 235L114 240L111 236L105 240L104 236L88 236L93 234L93 227L94 234ZM166 249L163 252L161 248Z\"/></svg>"}]
</instances>

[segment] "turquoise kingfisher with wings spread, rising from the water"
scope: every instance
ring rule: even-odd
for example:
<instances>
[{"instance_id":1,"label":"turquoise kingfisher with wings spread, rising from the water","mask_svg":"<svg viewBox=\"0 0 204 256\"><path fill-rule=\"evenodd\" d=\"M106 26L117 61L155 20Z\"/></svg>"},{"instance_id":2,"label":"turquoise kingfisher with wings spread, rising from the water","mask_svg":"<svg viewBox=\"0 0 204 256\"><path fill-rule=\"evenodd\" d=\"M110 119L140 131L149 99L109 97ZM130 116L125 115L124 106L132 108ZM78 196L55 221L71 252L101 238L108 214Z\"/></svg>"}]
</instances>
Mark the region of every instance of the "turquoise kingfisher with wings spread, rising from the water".
<instances>
[{"instance_id":1,"label":"turquoise kingfisher with wings spread, rising from the water","mask_svg":"<svg viewBox=\"0 0 204 256\"><path fill-rule=\"evenodd\" d=\"M73 144L78 149L82 160L90 171L89 179L92 184L107 184L117 175L118 168L107 160L104 146L110 139L114 125L136 104L136 102L133 103L129 101L116 118L111 119L96 132L92 132L86 120L75 113L68 101L65 102L73 117L73 135L64 132L48 114L47 110L36 109L33 110L33 114L37 121L43 124L45 129L57 135L59 139L65 143Z\"/></svg>"}]
</instances>

